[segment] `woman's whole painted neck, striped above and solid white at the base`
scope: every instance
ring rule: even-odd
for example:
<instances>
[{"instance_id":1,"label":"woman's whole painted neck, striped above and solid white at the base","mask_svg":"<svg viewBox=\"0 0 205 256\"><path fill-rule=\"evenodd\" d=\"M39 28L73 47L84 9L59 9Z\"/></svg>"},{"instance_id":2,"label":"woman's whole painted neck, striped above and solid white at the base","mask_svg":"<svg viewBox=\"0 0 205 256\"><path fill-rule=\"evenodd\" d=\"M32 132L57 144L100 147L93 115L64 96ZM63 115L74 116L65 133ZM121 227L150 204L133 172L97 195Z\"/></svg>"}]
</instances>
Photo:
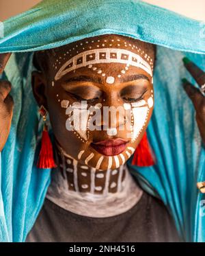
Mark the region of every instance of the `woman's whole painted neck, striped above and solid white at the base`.
<instances>
[{"instance_id":1,"label":"woman's whole painted neck, striped above and solid white at the base","mask_svg":"<svg viewBox=\"0 0 205 256\"><path fill-rule=\"evenodd\" d=\"M116 170L96 170L81 165L57 147L58 169L53 170L46 198L72 213L111 217L131 209L142 190L126 164Z\"/></svg>"}]
</instances>

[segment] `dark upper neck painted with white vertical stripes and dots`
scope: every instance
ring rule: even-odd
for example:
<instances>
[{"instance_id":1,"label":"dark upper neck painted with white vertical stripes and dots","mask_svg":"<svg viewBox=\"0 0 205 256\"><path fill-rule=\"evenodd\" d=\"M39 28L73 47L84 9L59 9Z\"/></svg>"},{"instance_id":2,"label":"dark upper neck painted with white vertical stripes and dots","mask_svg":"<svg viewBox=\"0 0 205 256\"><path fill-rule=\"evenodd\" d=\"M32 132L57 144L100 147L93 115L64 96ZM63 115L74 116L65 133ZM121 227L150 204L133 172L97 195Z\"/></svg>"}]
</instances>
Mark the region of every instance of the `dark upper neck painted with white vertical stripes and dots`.
<instances>
[{"instance_id":1,"label":"dark upper neck painted with white vertical stripes and dots","mask_svg":"<svg viewBox=\"0 0 205 256\"><path fill-rule=\"evenodd\" d=\"M115 170L96 170L82 165L57 146L59 174L64 178L69 191L90 194L118 193L125 182L126 168L121 165Z\"/></svg>"}]
</instances>

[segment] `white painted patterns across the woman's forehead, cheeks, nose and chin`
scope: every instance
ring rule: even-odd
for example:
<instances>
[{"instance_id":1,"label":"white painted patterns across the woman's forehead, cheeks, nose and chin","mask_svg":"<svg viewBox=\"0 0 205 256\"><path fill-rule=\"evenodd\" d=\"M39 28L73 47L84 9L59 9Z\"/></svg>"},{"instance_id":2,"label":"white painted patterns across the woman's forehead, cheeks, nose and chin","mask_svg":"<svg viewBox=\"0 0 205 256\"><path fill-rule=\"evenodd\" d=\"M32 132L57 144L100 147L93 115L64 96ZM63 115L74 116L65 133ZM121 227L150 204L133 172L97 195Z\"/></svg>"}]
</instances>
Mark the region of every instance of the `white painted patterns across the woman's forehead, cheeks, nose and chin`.
<instances>
[{"instance_id":1,"label":"white painted patterns across the woman's forehead, cheeks, nose and chin","mask_svg":"<svg viewBox=\"0 0 205 256\"><path fill-rule=\"evenodd\" d=\"M103 44L102 47L105 47L105 44ZM118 46L120 46L120 44ZM124 45L124 46L127 47L127 45ZM105 77L105 82L110 85L115 83L116 78L121 78L121 76L128 71L130 66L141 68L152 77L152 68L153 68L152 59L146 53L141 51L141 49L138 49L137 52L140 52L140 54L142 54L143 56L140 56L139 54L135 54L133 53L133 51L128 49L118 49L118 48L109 48L109 47L100 48L100 45L97 45L97 47L98 49L92 49L92 47L90 46L89 50L83 51L80 54L78 54L79 51L77 51L77 55L70 58L70 60L64 63L64 65L61 65L61 67L59 68L59 70L55 75L55 80L59 80L62 76L66 75L70 71L75 71L76 69L79 69L81 67L87 67L88 69L92 69L92 71L95 71L97 74L102 75L102 77ZM135 48L135 45L133 45L132 49L134 48ZM84 49L86 48L83 47L83 50ZM137 49L137 46L136 46L136 49ZM145 58L147 61L144 60L142 57ZM61 57L59 57L59 60L56 60L58 64L60 64L60 61L61 61L60 58ZM111 76L110 74L107 75L106 73L104 73L102 68L98 68L94 66L100 63L111 63L111 62L121 63L125 65L125 67L120 71L120 73L116 74L116 78ZM51 85L55 86L55 83L52 82ZM68 100L60 100L59 95L57 95L57 100L58 102L60 102L61 108L68 108L69 106ZM72 123L74 121L74 127L73 127L74 134L79 139L81 139L81 141L86 142L90 136L89 123L91 121L92 113L90 113L90 111L87 109L87 106L82 106L81 102L74 102L70 106L72 106L72 108L74 108L75 111L74 111L74 115L72 115L72 118L68 119L69 124L70 126L72 126ZM146 102L145 100L140 100L138 102L133 102L132 104L127 104L127 103L124 104L124 109L125 110L130 109L133 115L133 124L132 124L133 129L132 129L131 142L135 142L135 140L139 136L143 126L146 124L148 113L150 108L152 108L152 106L153 106L152 97L148 99L148 102ZM102 108L102 104L98 103L93 107L96 109L100 109ZM66 115L68 115L68 113L66 113ZM107 129L107 135L115 136L117 134L118 134L118 130L116 128ZM81 156L83 153L84 152L82 151L79 152L79 159L81 159ZM128 157L130 157L131 154L133 154L133 150L131 149L126 150L126 155ZM85 164L87 164L93 157L94 157L94 154L90 154L89 156L87 156L87 158L85 159ZM98 169L100 169L100 165L102 165L102 161L104 161L104 156L101 156L100 159L98 159L98 162L96 163L96 167ZM124 154L120 154L119 158L118 156L114 156L113 158L109 156L108 169L110 169L112 165L118 166L120 165L120 163L123 164L124 162L125 162Z\"/></svg>"}]
</instances>

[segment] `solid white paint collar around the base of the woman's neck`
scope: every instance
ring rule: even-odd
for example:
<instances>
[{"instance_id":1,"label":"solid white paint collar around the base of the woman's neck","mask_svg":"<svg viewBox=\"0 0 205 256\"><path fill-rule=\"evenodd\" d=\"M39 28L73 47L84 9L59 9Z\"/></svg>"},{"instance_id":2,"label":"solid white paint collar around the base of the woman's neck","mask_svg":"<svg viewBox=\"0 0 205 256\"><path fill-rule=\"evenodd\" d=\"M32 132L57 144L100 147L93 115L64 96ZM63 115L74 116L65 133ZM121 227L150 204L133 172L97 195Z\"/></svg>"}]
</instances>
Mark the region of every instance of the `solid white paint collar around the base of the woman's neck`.
<instances>
[{"instance_id":1,"label":"solid white paint collar around the base of the woman's neck","mask_svg":"<svg viewBox=\"0 0 205 256\"><path fill-rule=\"evenodd\" d=\"M118 186L117 193L107 192L108 183L104 194L77 193L76 191L66 190L61 183L59 172L55 172L57 177L55 177L55 182L52 181L46 198L59 207L81 216L92 218L118 216L134 207L143 194L143 191L138 187L127 166L124 165L124 167L126 168L126 176L124 182ZM124 167L122 165L120 166L121 177ZM107 181L108 178L109 173L107 174ZM96 187L96 190L100 191L102 187Z\"/></svg>"}]
</instances>

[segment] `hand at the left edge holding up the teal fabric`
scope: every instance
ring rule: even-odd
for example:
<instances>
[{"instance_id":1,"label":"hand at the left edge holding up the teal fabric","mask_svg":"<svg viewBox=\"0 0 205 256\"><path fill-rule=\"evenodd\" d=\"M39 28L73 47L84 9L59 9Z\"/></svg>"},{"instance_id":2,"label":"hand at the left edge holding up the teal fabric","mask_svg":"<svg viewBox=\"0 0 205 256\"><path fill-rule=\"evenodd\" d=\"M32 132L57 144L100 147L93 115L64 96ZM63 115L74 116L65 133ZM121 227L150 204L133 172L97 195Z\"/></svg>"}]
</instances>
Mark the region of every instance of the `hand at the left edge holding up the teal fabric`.
<instances>
[{"instance_id":1,"label":"hand at the left edge holding up the teal fabric","mask_svg":"<svg viewBox=\"0 0 205 256\"><path fill-rule=\"evenodd\" d=\"M0 74L3 73L10 56L10 53L0 55ZM10 82L6 80L0 81L0 152L8 139L12 123L14 102L10 95L11 89Z\"/></svg>"}]
</instances>

